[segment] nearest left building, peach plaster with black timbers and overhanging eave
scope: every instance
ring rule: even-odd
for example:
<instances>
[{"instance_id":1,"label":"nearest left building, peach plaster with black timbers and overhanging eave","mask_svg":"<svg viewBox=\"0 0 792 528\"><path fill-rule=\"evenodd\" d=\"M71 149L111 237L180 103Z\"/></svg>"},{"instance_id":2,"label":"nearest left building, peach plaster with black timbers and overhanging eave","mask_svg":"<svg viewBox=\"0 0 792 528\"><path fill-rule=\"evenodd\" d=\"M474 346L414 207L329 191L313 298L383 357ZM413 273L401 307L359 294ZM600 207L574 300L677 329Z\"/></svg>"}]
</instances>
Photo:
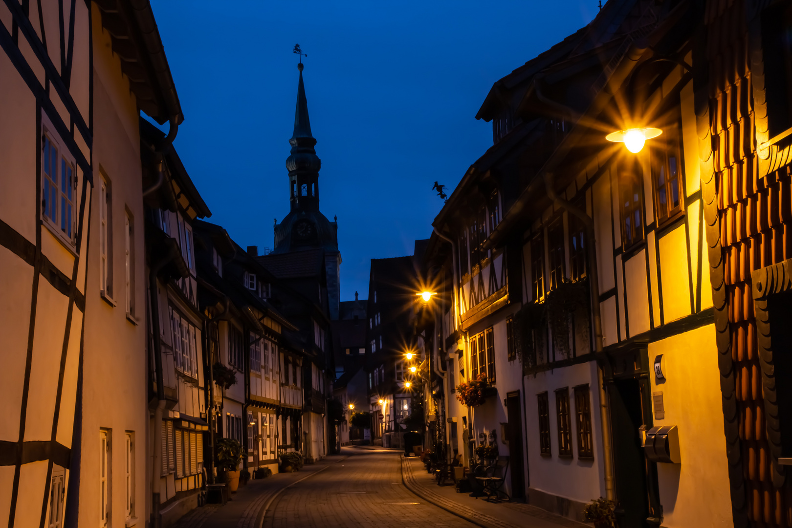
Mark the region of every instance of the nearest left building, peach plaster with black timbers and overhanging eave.
<instances>
[{"instance_id":1,"label":"nearest left building, peach plaster with black timbers and overhanging eave","mask_svg":"<svg viewBox=\"0 0 792 528\"><path fill-rule=\"evenodd\" d=\"M0 48L0 519L133 526L150 512L139 112L175 134L181 108L148 2L4 2Z\"/></svg>"}]
</instances>

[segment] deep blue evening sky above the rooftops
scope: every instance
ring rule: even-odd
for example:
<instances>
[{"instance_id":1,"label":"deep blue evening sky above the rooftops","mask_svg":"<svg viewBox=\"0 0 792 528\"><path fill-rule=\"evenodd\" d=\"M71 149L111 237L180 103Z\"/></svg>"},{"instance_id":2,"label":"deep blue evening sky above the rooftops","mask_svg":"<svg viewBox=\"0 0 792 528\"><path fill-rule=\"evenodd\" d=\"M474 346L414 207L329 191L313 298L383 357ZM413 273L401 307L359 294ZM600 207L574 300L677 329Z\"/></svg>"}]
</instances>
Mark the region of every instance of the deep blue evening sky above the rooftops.
<instances>
[{"instance_id":1,"label":"deep blue evening sky above the rooftops","mask_svg":"<svg viewBox=\"0 0 792 528\"><path fill-rule=\"evenodd\" d=\"M596 0L173 2L154 14L185 114L175 142L242 247L272 247L289 211L299 43L322 158L320 208L338 216L341 299L366 298L372 258L411 255L450 190L492 145L474 116L497 79L596 15ZM222 9L227 6L228 9ZM166 125L167 126L167 125Z\"/></svg>"}]
</instances>

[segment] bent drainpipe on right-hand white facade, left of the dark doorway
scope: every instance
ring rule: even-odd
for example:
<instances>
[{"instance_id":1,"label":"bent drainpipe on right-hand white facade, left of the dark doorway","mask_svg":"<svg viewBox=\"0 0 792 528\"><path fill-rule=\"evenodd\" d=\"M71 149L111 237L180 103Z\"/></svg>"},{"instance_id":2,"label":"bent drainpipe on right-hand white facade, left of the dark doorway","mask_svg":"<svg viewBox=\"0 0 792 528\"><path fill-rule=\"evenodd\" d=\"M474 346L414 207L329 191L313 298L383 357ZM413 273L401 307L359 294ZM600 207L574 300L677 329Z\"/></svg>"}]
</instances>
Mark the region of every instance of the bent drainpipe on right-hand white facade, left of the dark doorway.
<instances>
[{"instance_id":1,"label":"bent drainpipe on right-hand white facade, left of the dark doorway","mask_svg":"<svg viewBox=\"0 0 792 528\"><path fill-rule=\"evenodd\" d=\"M591 294L592 303L592 318L594 322L594 347L597 355L602 352L602 319L600 317L600 279L597 275L596 263L596 240L594 237L594 220L573 206L567 200L562 199L556 194L553 188L553 174L550 172L543 173L544 184L547 192L547 197L553 200L558 207L563 207L569 214L580 218L581 222L586 228L586 236L588 237L588 288ZM603 462L605 466L605 495L608 500L614 499L613 487L613 453L611 452L611 428L608 425L608 411L607 411L607 393L605 392L605 383L603 378L603 369L597 369L597 385L600 388L600 421L602 423L602 447L603 447Z\"/></svg>"}]
</instances>

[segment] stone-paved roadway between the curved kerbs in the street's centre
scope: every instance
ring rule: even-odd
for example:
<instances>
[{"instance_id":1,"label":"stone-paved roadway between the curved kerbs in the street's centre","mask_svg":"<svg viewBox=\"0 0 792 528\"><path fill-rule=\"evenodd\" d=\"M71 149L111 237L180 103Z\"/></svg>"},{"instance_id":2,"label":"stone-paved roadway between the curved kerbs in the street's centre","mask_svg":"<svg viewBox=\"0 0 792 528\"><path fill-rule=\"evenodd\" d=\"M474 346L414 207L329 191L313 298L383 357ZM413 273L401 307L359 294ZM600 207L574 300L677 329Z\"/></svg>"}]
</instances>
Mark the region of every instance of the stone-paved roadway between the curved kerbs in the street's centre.
<instances>
[{"instance_id":1,"label":"stone-paved roadway between the curved kerbs in the street's centre","mask_svg":"<svg viewBox=\"0 0 792 528\"><path fill-rule=\"evenodd\" d=\"M409 492L399 451L344 451L348 458L282 492L264 526L475 526Z\"/></svg>"}]
</instances>

